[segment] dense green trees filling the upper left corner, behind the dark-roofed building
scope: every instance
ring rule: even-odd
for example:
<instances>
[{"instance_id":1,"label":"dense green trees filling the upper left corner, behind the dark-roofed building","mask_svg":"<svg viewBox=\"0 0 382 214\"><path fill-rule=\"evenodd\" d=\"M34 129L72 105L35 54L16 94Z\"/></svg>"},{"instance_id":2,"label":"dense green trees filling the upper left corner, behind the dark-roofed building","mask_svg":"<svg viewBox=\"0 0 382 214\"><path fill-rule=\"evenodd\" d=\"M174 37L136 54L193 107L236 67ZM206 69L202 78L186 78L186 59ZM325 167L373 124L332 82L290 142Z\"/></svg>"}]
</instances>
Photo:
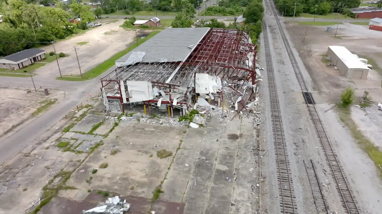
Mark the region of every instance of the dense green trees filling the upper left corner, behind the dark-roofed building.
<instances>
[{"instance_id":1,"label":"dense green trees filling the upper left corner, behind the dark-roofed building","mask_svg":"<svg viewBox=\"0 0 382 214\"><path fill-rule=\"evenodd\" d=\"M0 2L0 56L6 56L28 48L49 44L86 29L86 22L95 20L89 6L73 1L68 7L70 13L57 3L57 7L45 7L36 2L21 0ZM69 20L81 17L81 23Z\"/></svg>"}]
</instances>

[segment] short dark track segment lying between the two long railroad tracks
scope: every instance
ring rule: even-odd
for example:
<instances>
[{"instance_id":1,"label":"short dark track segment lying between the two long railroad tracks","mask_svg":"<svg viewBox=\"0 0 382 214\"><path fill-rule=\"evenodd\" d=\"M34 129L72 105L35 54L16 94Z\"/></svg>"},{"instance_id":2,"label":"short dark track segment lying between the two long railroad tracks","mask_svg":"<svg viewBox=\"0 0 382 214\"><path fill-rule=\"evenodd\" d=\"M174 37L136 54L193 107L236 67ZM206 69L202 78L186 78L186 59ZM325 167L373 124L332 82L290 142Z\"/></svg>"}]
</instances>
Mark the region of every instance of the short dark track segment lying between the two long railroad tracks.
<instances>
[{"instance_id":1,"label":"short dark track segment lying between the two long railroad tracks","mask_svg":"<svg viewBox=\"0 0 382 214\"><path fill-rule=\"evenodd\" d=\"M304 161L306 174L308 175L309 184L311 186L314 204L316 205L317 212L328 213L328 206L324 200L324 195L322 194L322 188L320 180L318 179L316 168L314 167L313 161Z\"/></svg>"}]
</instances>

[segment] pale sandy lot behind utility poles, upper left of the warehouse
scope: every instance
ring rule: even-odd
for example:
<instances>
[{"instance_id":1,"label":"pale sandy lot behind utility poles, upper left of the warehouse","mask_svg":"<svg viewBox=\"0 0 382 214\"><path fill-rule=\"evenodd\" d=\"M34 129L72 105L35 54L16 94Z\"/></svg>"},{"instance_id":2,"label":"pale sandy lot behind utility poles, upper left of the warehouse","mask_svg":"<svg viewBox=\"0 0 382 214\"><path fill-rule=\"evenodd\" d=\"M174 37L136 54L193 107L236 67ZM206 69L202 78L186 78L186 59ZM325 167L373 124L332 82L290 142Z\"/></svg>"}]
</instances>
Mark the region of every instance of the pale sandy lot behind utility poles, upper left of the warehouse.
<instances>
[{"instance_id":1,"label":"pale sandy lot behind utility poles, upper left of the warehouse","mask_svg":"<svg viewBox=\"0 0 382 214\"><path fill-rule=\"evenodd\" d=\"M135 33L132 30L119 27L123 21L123 19L98 19L97 22L101 22L102 26L90 29L85 34L57 42L55 44L56 53L68 54L68 56L58 59L62 75L79 75L74 46L77 49L82 72L92 69L114 54L124 50L135 38ZM49 53L53 51L53 46L42 49ZM47 77L58 77L60 75L55 61L37 69L35 72L38 75Z\"/></svg>"}]
</instances>

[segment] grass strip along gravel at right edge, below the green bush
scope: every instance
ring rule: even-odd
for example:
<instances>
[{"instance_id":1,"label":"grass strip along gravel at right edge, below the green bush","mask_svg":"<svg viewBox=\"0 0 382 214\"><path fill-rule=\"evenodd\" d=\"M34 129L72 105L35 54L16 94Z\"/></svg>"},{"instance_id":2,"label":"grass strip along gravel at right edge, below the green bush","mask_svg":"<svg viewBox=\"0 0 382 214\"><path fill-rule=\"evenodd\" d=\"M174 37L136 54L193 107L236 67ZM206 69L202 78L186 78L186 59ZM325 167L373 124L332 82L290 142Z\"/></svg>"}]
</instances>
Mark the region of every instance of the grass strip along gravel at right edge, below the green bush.
<instances>
[{"instance_id":1,"label":"grass strip along gravel at right edge, below the green bush","mask_svg":"<svg viewBox=\"0 0 382 214\"><path fill-rule=\"evenodd\" d=\"M356 123L351 119L350 108L338 107L338 109L340 111L340 120L350 130L351 136L359 147L361 147L374 162L377 171L379 171L379 176L382 179L382 152L358 129Z\"/></svg>"}]
</instances>

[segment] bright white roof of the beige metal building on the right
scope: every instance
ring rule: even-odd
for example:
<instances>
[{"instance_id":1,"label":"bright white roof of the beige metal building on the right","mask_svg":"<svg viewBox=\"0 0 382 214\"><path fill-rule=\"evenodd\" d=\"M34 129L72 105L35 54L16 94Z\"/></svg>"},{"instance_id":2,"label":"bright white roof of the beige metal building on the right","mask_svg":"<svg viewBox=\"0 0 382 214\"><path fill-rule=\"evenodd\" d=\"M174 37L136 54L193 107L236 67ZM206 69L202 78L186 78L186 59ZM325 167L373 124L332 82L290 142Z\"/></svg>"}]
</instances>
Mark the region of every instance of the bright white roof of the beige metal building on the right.
<instances>
[{"instance_id":1,"label":"bright white roof of the beige metal building on the right","mask_svg":"<svg viewBox=\"0 0 382 214\"><path fill-rule=\"evenodd\" d=\"M359 59L357 59L347 48L344 46L329 46L329 48L338 56L339 59L349 69L367 69L369 68L364 65Z\"/></svg>"}]
</instances>

